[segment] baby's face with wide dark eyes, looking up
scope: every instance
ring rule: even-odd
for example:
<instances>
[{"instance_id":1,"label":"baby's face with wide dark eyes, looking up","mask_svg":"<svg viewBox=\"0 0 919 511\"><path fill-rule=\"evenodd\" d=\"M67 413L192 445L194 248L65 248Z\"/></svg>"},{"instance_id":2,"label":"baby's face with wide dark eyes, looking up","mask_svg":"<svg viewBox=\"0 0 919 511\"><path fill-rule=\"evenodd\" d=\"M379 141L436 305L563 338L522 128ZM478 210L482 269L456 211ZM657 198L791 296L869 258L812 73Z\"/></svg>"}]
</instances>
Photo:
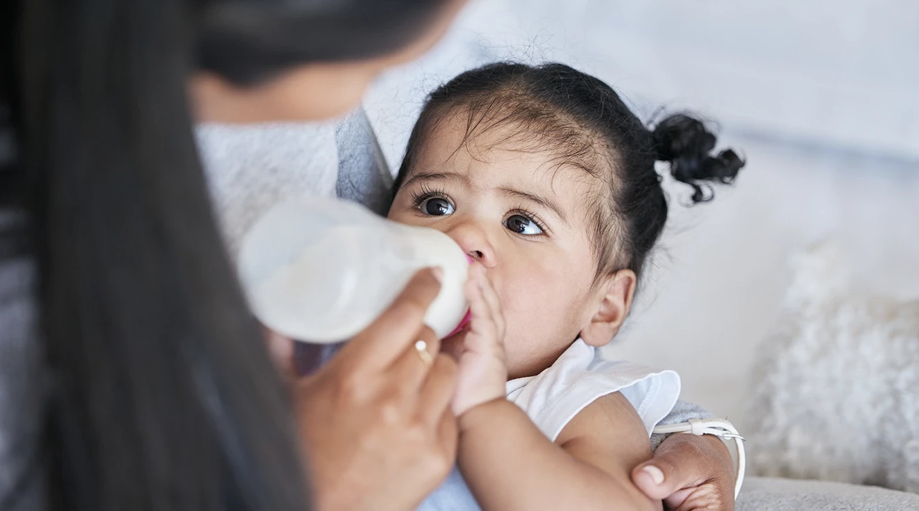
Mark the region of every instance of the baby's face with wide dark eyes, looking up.
<instances>
[{"instance_id":1,"label":"baby's face with wide dark eyes, looking up","mask_svg":"<svg viewBox=\"0 0 919 511\"><path fill-rule=\"evenodd\" d=\"M514 127L463 144L466 128L443 119L428 133L389 218L447 233L482 262L505 312L509 376L534 375L596 313L585 197L599 185L557 154L515 151Z\"/></svg>"}]
</instances>

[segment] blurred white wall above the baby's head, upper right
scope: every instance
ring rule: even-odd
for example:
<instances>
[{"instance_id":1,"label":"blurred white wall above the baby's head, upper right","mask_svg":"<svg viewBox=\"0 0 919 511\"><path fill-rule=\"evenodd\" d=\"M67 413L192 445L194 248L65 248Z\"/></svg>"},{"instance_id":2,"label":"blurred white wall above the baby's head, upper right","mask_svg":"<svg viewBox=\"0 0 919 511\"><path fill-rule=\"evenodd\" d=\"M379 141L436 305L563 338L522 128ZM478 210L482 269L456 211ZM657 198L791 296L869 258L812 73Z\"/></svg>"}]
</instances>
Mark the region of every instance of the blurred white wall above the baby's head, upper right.
<instances>
[{"instance_id":1,"label":"blurred white wall above the baby's head, upper right","mask_svg":"<svg viewBox=\"0 0 919 511\"><path fill-rule=\"evenodd\" d=\"M917 53L912 0L475 0L380 91L407 113L471 65L559 60L649 113L695 108L733 131L919 161ZM406 74L425 86L407 89Z\"/></svg>"}]
</instances>

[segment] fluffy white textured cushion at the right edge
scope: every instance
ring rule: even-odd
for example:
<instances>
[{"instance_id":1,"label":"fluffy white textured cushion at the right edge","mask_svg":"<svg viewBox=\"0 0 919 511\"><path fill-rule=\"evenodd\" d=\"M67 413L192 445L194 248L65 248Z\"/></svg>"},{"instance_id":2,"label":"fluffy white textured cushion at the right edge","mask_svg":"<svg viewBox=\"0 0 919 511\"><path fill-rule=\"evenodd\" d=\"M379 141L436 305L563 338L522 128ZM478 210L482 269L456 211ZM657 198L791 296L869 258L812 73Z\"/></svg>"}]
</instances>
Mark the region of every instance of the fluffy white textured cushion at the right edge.
<instances>
[{"instance_id":1,"label":"fluffy white textured cushion at the right edge","mask_svg":"<svg viewBox=\"0 0 919 511\"><path fill-rule=\"evenodd\" d=\"M851 289L836 244L793 266L754 371L752 471L919 493L919 301Z\"/></svg>"}]
</instances>

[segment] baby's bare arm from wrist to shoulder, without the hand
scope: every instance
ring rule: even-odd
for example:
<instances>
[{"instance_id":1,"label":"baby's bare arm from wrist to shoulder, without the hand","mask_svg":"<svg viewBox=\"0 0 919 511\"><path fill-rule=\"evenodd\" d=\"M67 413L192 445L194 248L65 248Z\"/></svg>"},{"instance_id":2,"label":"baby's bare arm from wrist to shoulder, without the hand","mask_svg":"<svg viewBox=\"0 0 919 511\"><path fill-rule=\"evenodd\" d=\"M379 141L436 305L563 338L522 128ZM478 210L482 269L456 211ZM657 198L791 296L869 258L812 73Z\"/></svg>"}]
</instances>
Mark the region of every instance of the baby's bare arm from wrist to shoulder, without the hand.
<instances>
[{"instance_id":1,"label":"baby's bare arm from wrist to shoulder, without the hand","mask_svg":"<svg viewBox=\"0 0 919 511\"><path fill-rule=\"evenodd\" d=\"M459 470L483 509L661 509L631 483L651 458L635 409L615 392L588 405L555 443L514 403L459 418Z\"/></svg>"}]
</instances>

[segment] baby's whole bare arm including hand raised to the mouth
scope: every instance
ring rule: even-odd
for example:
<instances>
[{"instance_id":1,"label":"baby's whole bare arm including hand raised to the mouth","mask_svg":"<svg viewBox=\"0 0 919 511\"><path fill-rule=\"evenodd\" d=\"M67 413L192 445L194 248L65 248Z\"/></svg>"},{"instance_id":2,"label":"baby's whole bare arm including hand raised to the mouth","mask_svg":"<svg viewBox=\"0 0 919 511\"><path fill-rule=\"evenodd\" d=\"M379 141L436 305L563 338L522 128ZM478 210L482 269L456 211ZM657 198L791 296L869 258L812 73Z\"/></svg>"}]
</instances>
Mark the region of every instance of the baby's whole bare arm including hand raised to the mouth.
<instances>
[{"instance_id":1,"label":"baby's whole bare arm including hand raised to the mouth","mask_svg":"<svg viewBox=\"0 0 919 511\"><path fill-rule=\"evenodd\" d=\"M459 356L454 411L459 469L482 508L661 509L630 471L651 458L651 441L631 403L615 392L577 414L552 443L505 399L504 318L479 265L466 294L471 328Z\"/></svg>"}]
</instances>

